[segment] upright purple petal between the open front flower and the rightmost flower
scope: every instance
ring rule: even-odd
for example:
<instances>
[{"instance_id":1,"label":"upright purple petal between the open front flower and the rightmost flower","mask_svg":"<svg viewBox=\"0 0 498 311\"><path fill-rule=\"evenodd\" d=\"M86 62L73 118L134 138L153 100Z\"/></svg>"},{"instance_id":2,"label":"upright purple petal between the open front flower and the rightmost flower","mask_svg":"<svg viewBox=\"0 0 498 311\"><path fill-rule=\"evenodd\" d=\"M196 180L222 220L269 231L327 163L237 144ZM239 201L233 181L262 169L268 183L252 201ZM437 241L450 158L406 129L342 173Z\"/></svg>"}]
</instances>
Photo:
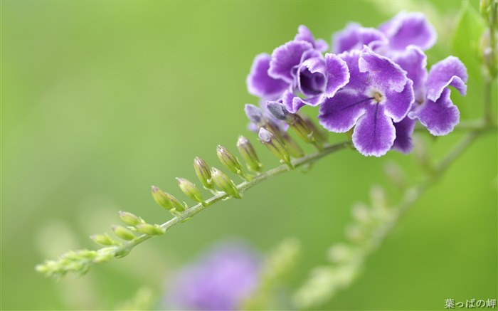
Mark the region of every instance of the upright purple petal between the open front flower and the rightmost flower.
<instances>
[{"instance_id":1,"label":"upright purple petal between the open front flower and the rightmost flower","mask_svg":"<svg viewBox=\"0 0 498 311\"><path fill-rule=\"evenodd\" d=\"M406 70L406 76L413 81L415 100L425 100L425 80L427 80L427 56L417 46L408 46L405 51L394 53L394 63Z\"/></svg>"}]
</instances>

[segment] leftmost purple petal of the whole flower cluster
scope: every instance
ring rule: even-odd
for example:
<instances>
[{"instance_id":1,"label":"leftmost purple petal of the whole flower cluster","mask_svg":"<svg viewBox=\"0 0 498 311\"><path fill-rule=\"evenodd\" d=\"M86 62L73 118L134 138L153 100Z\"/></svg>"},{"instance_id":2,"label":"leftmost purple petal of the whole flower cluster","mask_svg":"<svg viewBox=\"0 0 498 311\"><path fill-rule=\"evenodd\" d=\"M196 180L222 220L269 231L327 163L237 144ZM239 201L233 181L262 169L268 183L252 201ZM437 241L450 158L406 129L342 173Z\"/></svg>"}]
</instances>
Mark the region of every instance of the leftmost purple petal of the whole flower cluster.
<instances>
[{"instance_id":1,"label":"leftmost purple petal of the whole flower cluster","mask_svg":"<svg viewBox=\"0 0 498 311\"><path fill-rule=\"evenodd\" d=\"M250 94L265 98L275 98L282 95L284 90L289 87L289 83L271 78L268 75L268 68L270 68L269 54L261 53L255 57L248 78L246 79Z\"/></svg>"}]
</instances>

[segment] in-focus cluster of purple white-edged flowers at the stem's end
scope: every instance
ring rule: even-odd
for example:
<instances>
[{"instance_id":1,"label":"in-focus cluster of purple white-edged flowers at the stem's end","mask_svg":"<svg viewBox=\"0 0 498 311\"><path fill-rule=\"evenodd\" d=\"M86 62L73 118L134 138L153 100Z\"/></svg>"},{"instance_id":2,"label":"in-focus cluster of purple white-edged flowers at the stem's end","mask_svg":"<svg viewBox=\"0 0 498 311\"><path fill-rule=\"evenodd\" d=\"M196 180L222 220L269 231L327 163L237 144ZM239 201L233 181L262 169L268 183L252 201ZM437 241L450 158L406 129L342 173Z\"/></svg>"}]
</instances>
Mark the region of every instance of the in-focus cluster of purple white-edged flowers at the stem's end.
<instances>
[{"instance_id":1,"label":"in-focus cluster of purple white-edged flowers at the stem's end","mask_svg":"<svg viewBox=\"0 0 498 311\"><path fill-rule=\"evenodd\" d=\"M319 123L330 132L353 129L353 144L365 156L413 149L418 120L432 135L447 135L460 121L450 88L465 95L467 69L449 56L427 69L424 51L436 41L420 13L401 13L378 28L350 23L327 43L300 26L294 40L272 55L256 56L249 93L278 101L295 113L319 105ZM323 54L324 53L324 54Z\"/></svg>"}]
</instances>

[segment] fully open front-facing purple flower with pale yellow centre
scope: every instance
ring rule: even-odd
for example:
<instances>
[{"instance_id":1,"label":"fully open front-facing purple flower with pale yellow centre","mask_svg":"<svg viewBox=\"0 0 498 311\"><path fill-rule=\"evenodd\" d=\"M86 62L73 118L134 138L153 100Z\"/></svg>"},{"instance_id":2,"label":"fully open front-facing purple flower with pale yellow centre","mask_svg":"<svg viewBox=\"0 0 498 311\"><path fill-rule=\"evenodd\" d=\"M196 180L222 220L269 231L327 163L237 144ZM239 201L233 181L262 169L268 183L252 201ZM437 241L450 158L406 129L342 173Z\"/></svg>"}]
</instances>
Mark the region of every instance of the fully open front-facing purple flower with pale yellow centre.
<instances>
[{"instance_id":1,"label":"fully open front-facing purple flower with pale yellow centre","mask_svg":"<svg viewBox=\"0 0 498 311\"><path fill-rule=\"evenodd\" d=\"M351 78L334 97L322 102L319 122L331 132L354 127L356 149L380 157L396 138L393 122L403 120L414 101L413 82L399 65L366 46L339 57L347 63Z\"/></svg>"}]
</instances>

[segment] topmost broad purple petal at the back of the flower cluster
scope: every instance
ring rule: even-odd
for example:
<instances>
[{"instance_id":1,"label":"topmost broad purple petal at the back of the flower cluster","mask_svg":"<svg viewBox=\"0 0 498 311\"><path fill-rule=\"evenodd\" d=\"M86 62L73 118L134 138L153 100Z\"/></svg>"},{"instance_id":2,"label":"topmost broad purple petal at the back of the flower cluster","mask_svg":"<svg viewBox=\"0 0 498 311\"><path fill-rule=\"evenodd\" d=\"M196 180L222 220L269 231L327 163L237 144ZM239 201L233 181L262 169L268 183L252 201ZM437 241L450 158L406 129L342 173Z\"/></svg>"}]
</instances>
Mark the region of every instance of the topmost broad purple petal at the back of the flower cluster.
<instances>
[{"instance_id":1,"label":"topmost broad purple petal at the back of the flower cluster","mask_svg":"<svg viewBox=\"0 0 498 311\"><path fill-rule=\"evenodd\" d=\"M400 13L378 27L389 39L389 47L403 51L407 46L418 46L422 50L432 47L437 34L422 13Z\"/></svg>"}]
</instances>

